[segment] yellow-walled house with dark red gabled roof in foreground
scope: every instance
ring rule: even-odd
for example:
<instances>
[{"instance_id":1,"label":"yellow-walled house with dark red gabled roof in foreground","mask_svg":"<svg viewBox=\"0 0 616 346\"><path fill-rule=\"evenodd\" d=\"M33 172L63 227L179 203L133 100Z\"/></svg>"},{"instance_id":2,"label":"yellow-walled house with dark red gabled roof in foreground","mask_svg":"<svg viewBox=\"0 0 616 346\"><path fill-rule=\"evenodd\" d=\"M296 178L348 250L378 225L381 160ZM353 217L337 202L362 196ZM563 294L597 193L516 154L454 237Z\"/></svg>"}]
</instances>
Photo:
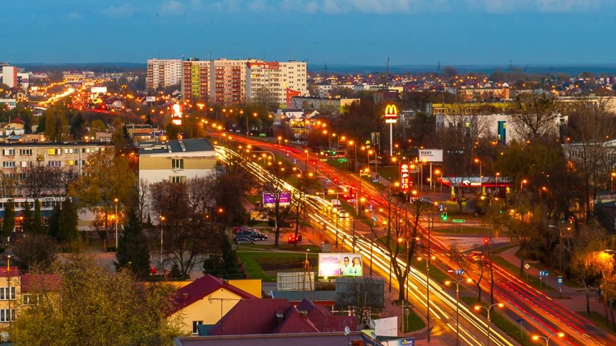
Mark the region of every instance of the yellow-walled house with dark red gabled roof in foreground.
<instances>
[{"instance_id":1,"label":"yellow-walled house with dark red gabled roof in foreground","mask_svg":"<svg viewBox=\"0 0 616 346\"><path fill-rule=\"evenodd\" d=\"M243 284L253 287L252 292L261 292L261 280L237 281L237 286ZM259 300L232 282L206 275L178 289L169 319L179 318L182 332L197 334L197 326L216 324L243 299Z\"/></svg>"}]
</instances>

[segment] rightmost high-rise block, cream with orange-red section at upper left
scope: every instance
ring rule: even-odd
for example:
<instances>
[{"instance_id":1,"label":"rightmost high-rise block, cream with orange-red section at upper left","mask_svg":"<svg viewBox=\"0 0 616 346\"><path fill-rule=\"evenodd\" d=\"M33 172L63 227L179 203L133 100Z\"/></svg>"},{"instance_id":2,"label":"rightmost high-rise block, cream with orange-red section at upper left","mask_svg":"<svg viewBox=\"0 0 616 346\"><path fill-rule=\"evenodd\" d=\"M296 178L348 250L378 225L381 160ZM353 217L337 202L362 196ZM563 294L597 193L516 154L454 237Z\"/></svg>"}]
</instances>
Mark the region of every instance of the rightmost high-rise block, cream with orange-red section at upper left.
<instances>
[{"instance_id":1,"label":"rightmost high-rise block, cream with orange-red section at upper left","mask_svg":"<svg viewBox=\"0 0 616 346\"><path fill-rule=\"evenodd\" d=\"M281 107L287 106L287 94L306 95L306 62L248 62L246 100L254 102L262 93L270 94Z\"/></svg>"}]
</instances>

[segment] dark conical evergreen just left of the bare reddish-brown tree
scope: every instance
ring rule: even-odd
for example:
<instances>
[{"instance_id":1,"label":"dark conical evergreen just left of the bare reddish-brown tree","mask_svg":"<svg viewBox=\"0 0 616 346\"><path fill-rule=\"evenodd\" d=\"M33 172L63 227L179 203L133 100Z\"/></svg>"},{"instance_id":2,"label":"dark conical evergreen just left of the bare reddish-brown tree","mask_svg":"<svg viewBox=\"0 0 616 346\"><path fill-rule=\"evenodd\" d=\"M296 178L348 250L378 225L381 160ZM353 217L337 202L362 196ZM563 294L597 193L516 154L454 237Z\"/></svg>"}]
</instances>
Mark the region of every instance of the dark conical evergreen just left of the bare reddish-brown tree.
<instances>
[{"instance_id":1,"label":"dark conical evergreen just left of the bare reddish-brown tree","mask_svg":"<svg viewBox=\"0 0 616 346\"><path fill-rule=\"evenodd\" d=\"M146 278L150 273L150 252L147 239L137 217L137 211L131 207L128 211L124 231L116 252L117 270L128 268L137 278Z\"/></svg>"}]
</instances>

